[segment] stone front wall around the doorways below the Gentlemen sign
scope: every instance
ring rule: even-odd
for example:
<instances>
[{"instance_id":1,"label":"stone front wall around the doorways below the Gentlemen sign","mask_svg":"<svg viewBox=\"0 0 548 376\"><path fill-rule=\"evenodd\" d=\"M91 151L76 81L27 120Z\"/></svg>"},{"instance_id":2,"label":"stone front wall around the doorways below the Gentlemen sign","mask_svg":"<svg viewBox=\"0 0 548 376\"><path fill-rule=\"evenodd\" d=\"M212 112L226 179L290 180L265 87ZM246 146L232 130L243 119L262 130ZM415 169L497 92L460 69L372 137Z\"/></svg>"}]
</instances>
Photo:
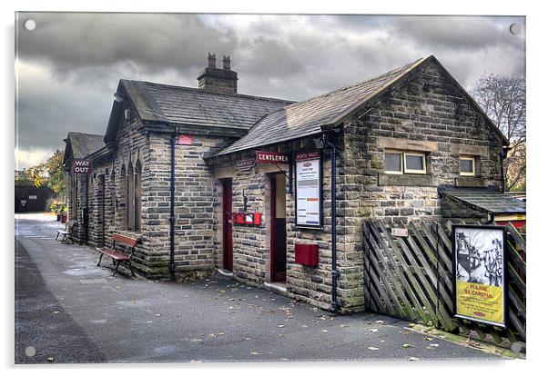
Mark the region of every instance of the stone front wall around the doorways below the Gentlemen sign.
<instances>
[{"instance_id":1,"label":"stone front wall around the doorways below the Gentlemen sign","mask_svg":"<svg viewBox=\"0 0 548 376\"><path fill-rule=\"evenodd\" d=\"M340 146L342 139L340 138ZM291 150L314 150L311 139L299 142L286 143L279 147L264 147L261 151L272 151L290 153ZM255 150L234 153L219 157L211 161L212 168L221 171L230 170L236 161L240 159L254 158ZM311 305L322 309L330 309L331 293L331 246L330 246L330 155L329 151L323 153L323 229L310 230L298 229L295 227L295 196L286 193L286 217L287 217L287 292L292 298L308 302ZM338 183L342 183L343 169L342 160L338 161ZM234 225L232 229L233 238L233 274L238 281L261 285L270 282L270 183L269 173L276 173L277 169L264 165L255 166L250 171L233 171L229 174L232 178L232 212L239 212L243 209L243 191L248 197L248 212L262 213L262 224L259 227L247 225ZM222 182L216 179L216 223L215 223L215 248L216 266L222 267ZM340 187L338 188L340 189ZM289 179L286 179L286 192L289 190ZM345 254L344 245L344 201L337 203L338 222L338 254L339 269L342 272L339 282L338 300L343 305L342 312L347 311L349 302L352 299L348 287L350 282L346 267L346 260L350 258ZM302 266L295 263L295 243L317 243L320 246L320 265L317 268ZM361 281L363 277L361 277ZM352 288L353 290L353 288ZM363 293L361 293L363 300Z\"/></svg>"}]
</instances>

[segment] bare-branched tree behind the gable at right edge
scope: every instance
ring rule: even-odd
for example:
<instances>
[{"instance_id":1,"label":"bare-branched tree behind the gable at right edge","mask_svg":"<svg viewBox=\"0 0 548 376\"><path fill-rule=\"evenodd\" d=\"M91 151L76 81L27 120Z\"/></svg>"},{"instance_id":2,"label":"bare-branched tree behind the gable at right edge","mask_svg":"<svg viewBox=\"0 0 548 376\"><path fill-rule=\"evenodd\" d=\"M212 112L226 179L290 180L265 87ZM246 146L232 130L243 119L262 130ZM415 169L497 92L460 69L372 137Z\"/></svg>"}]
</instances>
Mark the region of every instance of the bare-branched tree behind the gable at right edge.
<instances>
[{"instance_id":1,"label":"bare-branched tree behind the gable at right edge","mask_svg":"<svg viewBox=\"0 0 548 376\"><path fill-rule=\"evenodd\" d=\"M510 141L504 161L506 189L525 186L526 98L523 76L487 75L472 89L472 96Z\"/></svg>"}]
</instances>

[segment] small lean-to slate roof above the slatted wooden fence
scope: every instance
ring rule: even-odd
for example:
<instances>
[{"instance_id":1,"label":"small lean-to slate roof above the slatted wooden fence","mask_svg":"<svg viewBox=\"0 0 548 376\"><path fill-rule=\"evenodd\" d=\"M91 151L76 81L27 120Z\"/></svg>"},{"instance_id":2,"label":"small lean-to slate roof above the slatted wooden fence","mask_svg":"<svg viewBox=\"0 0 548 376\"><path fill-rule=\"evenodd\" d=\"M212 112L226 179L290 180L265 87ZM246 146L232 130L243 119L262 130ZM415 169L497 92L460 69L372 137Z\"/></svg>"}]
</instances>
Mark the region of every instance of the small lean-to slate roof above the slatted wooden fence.
<instances>
[{"instance_id":1,"label":"small lean-to slate roof above the slatted wooden fence","mask_svg":"<svg viewBox=\"0 0 548 376\"><path fill-rule=\"evenodd\" d=\"M525 213L526 203L509 194L493 193L489 191L457 190L447 192L447 196L473 208L493 214Z\"/></svg>"}]
</instances>

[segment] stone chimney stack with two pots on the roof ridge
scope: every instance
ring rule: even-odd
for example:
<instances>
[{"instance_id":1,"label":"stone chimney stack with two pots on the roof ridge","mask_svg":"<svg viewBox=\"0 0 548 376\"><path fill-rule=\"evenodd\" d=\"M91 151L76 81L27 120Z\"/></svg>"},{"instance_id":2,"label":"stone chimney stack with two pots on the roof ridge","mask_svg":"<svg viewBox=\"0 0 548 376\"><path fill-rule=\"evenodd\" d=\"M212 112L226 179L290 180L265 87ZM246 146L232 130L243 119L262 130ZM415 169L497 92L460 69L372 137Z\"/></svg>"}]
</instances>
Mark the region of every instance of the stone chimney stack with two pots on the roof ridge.
<instances>
[{"instance_id":1,"label":"stone chimney stack with two pots on the roof ridge","mask_svg":"<svg viewBox=\"0 0 548 376\"><path fill-rule=\"evenodd\" d=\"M230 70L229 54L223 54L223 69L219 69L215 54L208 53L208 66L198 75L198 88L211 93L238 93L238 74Z\"/></svg>"}]
</instances>

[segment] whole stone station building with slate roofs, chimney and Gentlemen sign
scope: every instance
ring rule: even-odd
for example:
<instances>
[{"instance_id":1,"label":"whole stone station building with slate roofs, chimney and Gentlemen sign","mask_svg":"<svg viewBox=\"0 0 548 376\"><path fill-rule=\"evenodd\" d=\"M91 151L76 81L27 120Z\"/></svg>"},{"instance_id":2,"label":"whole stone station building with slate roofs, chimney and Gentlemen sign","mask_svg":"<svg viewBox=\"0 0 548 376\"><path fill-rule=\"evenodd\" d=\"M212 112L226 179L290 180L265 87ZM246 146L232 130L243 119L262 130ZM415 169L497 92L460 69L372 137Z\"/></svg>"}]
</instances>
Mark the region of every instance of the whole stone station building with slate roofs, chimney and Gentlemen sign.
<instances>
[{"instance_id":1,"label":"whole stone station building with slate roofs, chimney and Gentlemen sign","mask_svg":"<svg viewBox=\"0 0 548 376\"><path fill-rule=\"evenodd\" d=\"M434 56L299 103L238 94L237 80L210 54L198 89L120 81L86 155L82 242L138 235L148 278L217 270L355 312L364 220L439 220L440 189L501 190L508 141Z\"/></svg>"}]
</instances>

